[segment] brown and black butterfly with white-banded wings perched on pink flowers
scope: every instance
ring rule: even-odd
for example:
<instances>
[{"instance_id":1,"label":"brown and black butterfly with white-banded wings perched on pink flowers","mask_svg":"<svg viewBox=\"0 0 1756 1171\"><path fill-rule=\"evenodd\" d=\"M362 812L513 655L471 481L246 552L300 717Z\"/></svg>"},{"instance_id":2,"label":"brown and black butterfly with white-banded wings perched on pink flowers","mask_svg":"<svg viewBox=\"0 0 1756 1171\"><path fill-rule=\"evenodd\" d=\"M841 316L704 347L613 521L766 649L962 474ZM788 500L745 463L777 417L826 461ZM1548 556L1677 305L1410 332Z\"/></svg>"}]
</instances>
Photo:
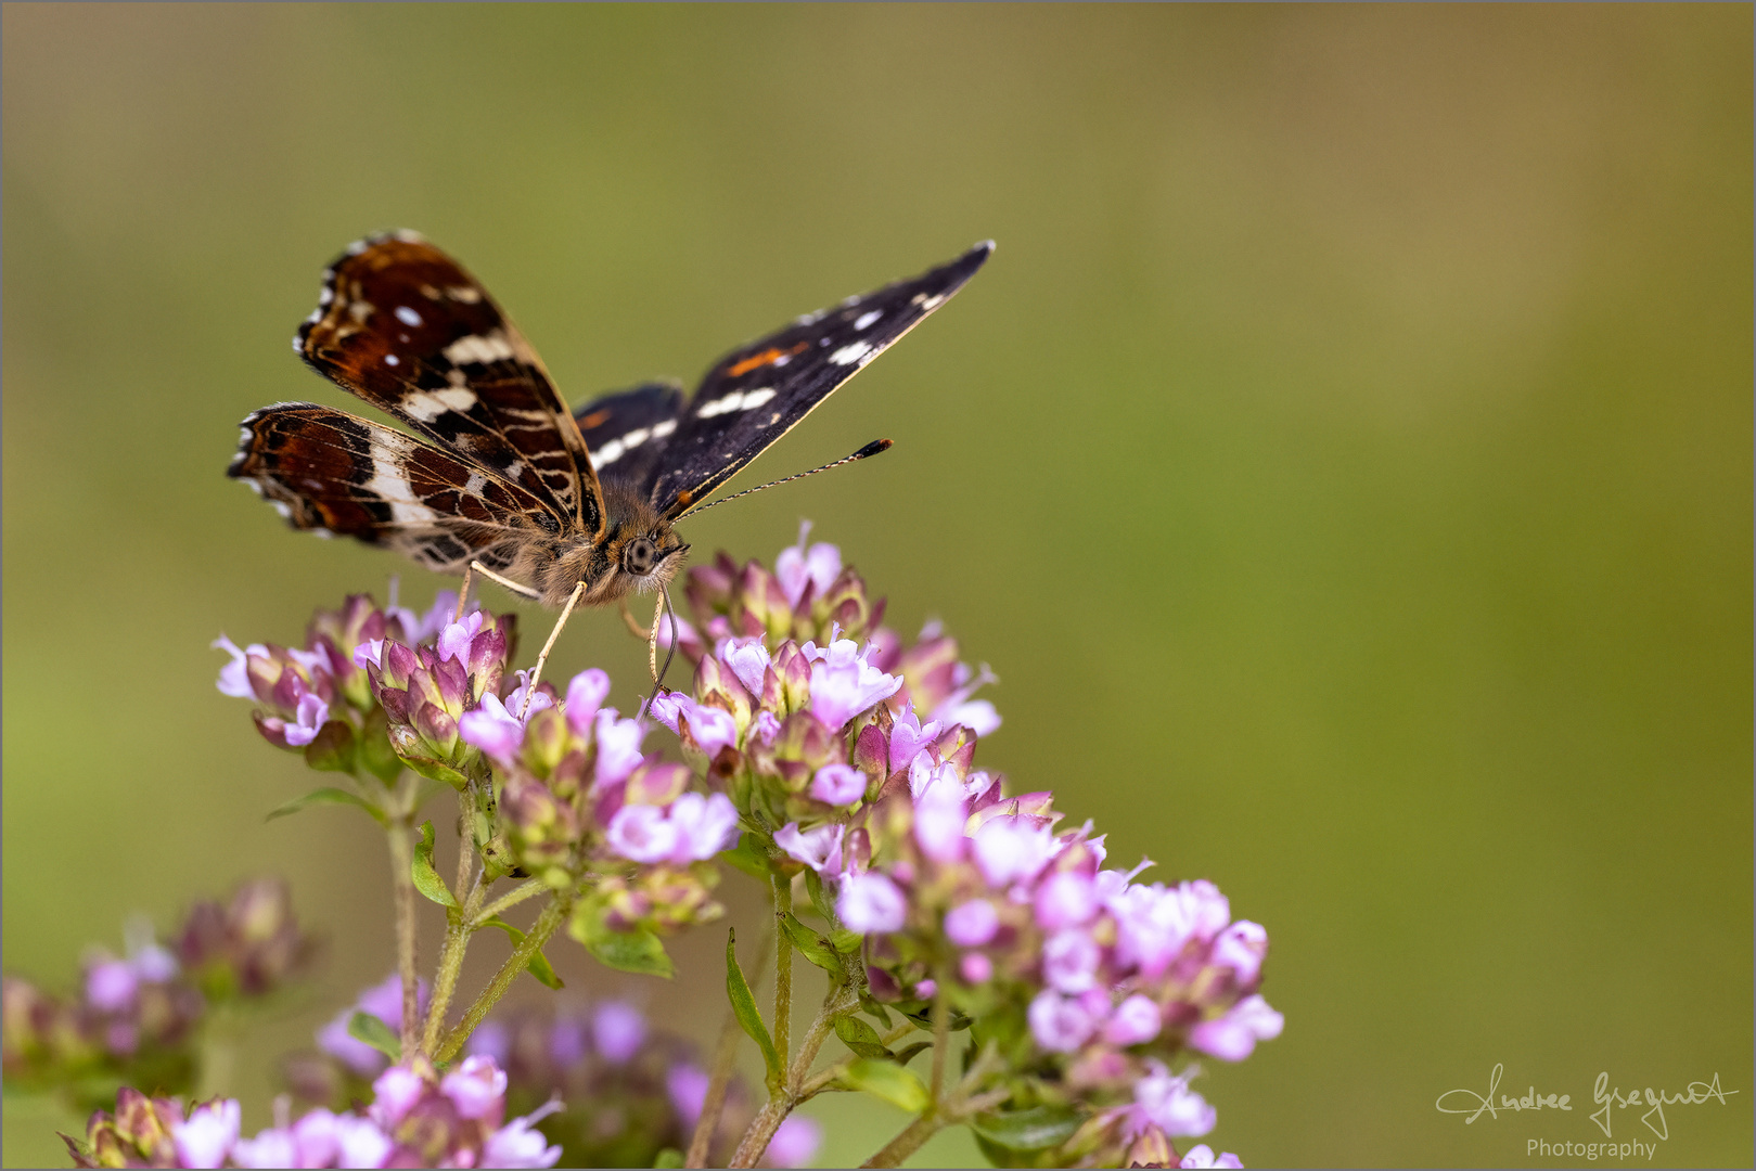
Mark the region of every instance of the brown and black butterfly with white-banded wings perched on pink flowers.
<instances>
[{"instance_id":1,"label":"brown and black butterfly with white-banded wings perched on pink flowers","mask_svg":"<svg viewBox=\"0 0 1756 1171\"><path fill-rule=\"evenodd\" d=\"M283 402L244 420L227 476L293 528L439 572L474 567L550 607L662 590L688 553L676 521L943 305L992 248L797 318L720 358L687 400L650 383L569 411L476 277L413 232L374 235L323 274L293 349L414 435Z\"/></svg>"}]
</instances>

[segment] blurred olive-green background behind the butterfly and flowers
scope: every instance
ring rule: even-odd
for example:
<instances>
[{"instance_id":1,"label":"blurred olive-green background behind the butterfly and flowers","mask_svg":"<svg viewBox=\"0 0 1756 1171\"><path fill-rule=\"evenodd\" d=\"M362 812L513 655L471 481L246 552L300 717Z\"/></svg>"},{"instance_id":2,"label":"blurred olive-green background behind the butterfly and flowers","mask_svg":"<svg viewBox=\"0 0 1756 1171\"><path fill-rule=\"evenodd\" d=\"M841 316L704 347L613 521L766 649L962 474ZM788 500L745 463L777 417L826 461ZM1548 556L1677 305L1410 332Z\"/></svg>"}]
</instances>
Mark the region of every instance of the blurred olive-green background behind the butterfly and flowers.
<instances>
[{"instance_id":1,"label":"blurred olive-green background behind the butterfly and flowers","mask_svg":"<svg viewBox=\"0 0 1756 1171\"><path fill-rule=\"evenodd\" d=\"M221 476L248 411L351 406L288 353L348 241L453 251L579 400L992 235L755 474L896 451L687 537L771 558L813 518L894 625L994 665L982 762L1268 927L1287 1027L1208 1062L1215 1148L1522 1164L1601 1138L1598 1071L1717 1071L1737 1096L1673 1108L1656 1162L1747 1164L1751 32L1745 5L7 5L7 971L65 987L128 913L288 874L328 966L242 1071L255 1129L274 1052L392 962L381 837L263 823L311 781L207 648L439 585ZM625 706L643 658L613 614L558 651ZM706 1039L718 939L666 987L551 952ZM1575 1110L1435 1110L1496 1062ZM820 1117L825 1164L901 1124ZM60 1162L56 1125L9 1101L7 1164Z\"/></svg>"}]
</instances>

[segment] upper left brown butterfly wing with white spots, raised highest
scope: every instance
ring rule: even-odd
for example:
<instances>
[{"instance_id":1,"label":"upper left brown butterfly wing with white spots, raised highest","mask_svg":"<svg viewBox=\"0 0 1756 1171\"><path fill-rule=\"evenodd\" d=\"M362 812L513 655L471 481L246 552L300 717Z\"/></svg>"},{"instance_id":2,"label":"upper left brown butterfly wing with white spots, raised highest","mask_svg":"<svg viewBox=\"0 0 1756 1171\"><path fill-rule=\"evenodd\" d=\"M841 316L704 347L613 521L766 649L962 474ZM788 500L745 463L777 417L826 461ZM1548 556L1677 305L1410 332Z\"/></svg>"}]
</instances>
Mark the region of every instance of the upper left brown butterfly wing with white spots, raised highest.
<instances>
[{"instance_id":1,"label":"upper left brown butterfly wing with white spots, raised highest","mask_svg":"<svg viewBox=\"0 0 1756 1171\"><path fill-rule=\"evenodd\" d=\"M413 232L349 248L293 341L320 374L597 537L579 428L488 291ZM462 483L462 481L460 481Z\"/></svg>"}]
</instances>

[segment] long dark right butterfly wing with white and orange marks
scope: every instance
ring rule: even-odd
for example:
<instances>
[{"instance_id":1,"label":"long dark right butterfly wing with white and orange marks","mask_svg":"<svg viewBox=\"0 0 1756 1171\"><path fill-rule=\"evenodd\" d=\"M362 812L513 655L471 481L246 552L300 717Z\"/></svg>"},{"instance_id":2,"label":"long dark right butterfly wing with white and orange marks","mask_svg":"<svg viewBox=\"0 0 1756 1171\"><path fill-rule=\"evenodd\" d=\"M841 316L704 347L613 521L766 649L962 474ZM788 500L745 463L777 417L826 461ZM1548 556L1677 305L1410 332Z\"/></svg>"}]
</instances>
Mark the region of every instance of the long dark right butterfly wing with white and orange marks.
<instances>
[{"instance_id":1,"label":"long dark right butterfly wing with white and orange marks","mask_svg":"<svg viewBox=\"0 0 1756 1171\"><path fill-rule=\"evenodd\" d=\"M699 504L943 305L992 251L992 241L976 244L948 265L850 297L725 355L664 442L651 502L669 518Z\"/></svg>"}]
</instances>

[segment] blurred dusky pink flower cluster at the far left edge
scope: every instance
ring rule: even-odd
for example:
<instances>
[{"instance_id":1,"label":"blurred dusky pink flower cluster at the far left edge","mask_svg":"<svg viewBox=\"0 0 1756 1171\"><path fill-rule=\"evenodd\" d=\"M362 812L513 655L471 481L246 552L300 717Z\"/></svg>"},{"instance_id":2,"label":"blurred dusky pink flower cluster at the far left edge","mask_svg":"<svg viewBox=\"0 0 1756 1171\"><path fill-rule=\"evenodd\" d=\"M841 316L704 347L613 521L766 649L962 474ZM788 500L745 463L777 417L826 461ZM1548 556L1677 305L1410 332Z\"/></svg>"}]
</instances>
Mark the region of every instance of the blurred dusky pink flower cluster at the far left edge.
<instances>
[{"instance_id":1,"label":"blurred dusky pink flower cluster at the far left edge","mask_svg":"<svg viewBox=\"0 0 1756 1171\"><path fill-rule=\"evenodd\" d=\"M72 1092L86 1108L90 1087L105 1080L186 1088L209 1013L265 1001L314 952L279 880L246 881L227 904L197 902L167 939L135 920L126 939L121 959L86 957L76 999L7 976L0 1052L9 1085Z\"/></svg>"}]
</instances>

